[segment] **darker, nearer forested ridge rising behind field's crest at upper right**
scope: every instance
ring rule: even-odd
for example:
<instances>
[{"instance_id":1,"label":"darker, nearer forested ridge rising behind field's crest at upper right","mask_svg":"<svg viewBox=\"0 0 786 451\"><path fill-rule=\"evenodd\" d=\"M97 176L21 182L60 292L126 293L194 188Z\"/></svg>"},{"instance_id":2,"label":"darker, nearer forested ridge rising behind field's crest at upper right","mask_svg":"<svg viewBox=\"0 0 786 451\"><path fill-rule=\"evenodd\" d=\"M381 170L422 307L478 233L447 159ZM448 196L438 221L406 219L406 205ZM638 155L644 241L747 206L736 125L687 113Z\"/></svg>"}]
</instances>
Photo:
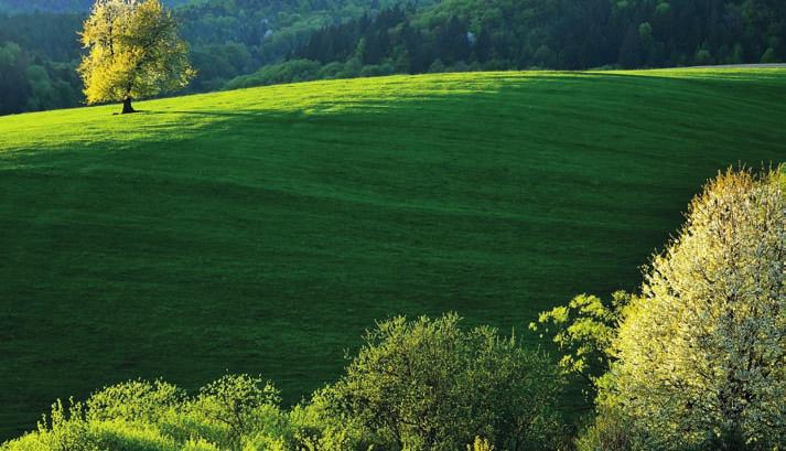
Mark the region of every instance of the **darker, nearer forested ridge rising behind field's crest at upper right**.
<instances>
[{"instance_id":1,"label":"darker, nearer forested ridge rising behind field's crest at upper right","mask_svg":"<svg viewBox=\"0 0 786 451\"><path fill-rule=\"evenodd\" d=\"M786 61L784 0L444 0L313 33L232 86L386 73Z\"/></svg>"}]
</instances>

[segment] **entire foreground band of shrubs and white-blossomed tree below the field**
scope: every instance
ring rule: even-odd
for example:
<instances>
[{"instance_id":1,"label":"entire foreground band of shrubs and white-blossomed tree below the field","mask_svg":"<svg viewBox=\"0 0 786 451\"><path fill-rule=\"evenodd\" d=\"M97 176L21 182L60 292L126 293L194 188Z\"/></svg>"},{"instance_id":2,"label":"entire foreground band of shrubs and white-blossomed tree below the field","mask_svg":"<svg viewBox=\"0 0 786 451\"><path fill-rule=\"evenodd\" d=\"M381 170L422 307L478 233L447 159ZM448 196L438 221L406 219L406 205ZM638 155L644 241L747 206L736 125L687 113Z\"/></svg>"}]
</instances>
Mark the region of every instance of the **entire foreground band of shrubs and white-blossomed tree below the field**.
<instances>
[{"instance_id":1,"label":"entire foreground band of shrubs and white-blossomed tree below the field","mask_svg":"<svg viewBox=\"0 0 786 451\"><path fill-rule=\"evenodd\" d=\"M131 380L56 401L26 450L777 451L786 443L786 169L728 171L689 205L636 293L582 294L530 329L554 362L456 314L369 330L292 408L261 376L189 394ZM594 409L571 421L564 387Z\"/></svg>"}]
</instances>

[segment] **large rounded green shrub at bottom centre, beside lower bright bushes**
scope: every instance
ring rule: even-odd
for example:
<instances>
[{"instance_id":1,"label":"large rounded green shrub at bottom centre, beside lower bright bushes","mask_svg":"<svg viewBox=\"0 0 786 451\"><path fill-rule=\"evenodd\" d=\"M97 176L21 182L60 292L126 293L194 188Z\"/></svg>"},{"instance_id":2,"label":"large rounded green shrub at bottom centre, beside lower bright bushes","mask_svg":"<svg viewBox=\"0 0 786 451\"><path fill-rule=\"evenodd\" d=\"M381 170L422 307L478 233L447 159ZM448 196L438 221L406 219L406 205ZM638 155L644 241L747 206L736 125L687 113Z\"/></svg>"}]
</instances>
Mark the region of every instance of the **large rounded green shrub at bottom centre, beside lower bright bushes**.
<instances>
[{"instance_id":1,"label":"large rounded green shrub at bottom centre, beside lower bright bushes","mask_svg":"<svg viewBox=\"0 0 786 451\"><path fill-rule=\"evenodd\" d=\"M460 450L476 437L498 449L551 449L559 372L539 353L459 316L378 324L326 391L334 415L388 450Z\"/></svg>"}]
</instances>

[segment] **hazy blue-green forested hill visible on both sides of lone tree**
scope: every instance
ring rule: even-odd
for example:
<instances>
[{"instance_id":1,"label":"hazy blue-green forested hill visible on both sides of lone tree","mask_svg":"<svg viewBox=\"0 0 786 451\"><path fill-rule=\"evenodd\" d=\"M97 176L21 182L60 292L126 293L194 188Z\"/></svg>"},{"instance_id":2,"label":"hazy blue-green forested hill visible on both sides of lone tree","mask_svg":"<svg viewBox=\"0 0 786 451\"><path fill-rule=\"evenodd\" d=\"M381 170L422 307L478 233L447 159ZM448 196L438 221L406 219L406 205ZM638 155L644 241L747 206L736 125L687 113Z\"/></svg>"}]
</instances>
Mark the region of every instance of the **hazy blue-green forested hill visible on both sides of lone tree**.
<instances>
[{"instance_id":1,"label":"hazy blue-green forested hill visible on both sides of lone tree","mask_svg":"<svg viewBox=\"0 0 786 451\"><path fill-rule=\"evenodd\" d=\"M198 76L189 92L278 63L332 24L402 0L169 0ZM424 7L437 0L419 0ZM77 106L77 31L91 0L0 0L0 115ZM34 11L34 12L33 12ZM64 12L65 11L65 12Z\"/></svg>"}]
</instances>

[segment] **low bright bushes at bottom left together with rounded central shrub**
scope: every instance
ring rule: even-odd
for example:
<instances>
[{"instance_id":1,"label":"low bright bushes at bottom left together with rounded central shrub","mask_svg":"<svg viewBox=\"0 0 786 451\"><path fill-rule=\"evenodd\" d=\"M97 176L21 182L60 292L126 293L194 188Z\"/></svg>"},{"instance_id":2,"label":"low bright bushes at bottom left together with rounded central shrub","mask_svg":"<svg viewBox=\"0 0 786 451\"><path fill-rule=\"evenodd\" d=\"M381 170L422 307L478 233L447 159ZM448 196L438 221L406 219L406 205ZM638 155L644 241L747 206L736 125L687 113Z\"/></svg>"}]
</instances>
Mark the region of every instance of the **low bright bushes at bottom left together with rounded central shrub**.
<instances>
[{"instance_id":1,"label":"low bright bushes at bottom left together with rounded central shrub","mask_svg":"<svg viewBox=\"0 0 786 451\"><path fill-rule=\"evenodd\" d=\"M492 451L480 432L504 449L556 449L563 430L552 365L489 327L463 332L457 321L380 323L344 378L289 411L270 383L248 375L226 375L195 397L131 380L68 412L57 401L49 422L0 450L448 450L475 437L476 451Z\"/></svg>"}]
</instances>

